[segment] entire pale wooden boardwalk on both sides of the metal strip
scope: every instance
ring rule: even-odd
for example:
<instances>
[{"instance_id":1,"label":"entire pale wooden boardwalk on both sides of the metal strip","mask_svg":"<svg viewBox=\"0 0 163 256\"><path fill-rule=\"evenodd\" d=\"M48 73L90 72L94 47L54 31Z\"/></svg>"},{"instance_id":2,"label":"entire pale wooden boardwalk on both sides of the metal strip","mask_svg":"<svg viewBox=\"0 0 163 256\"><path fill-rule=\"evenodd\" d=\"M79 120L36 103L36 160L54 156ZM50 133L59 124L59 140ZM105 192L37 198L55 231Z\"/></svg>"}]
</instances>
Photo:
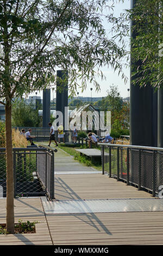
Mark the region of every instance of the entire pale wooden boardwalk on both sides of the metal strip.
<instances>
[{"instance_id":1,"label":"entire pale wooden boardwalk on both sides of the metal strip","mask_svg":"<svg viewBox=\"0 0 163 256\"><path fill-rule=\"evenodd\" d=\"M152 198L98 173L58 174L54 187L55 200ZM15 199L15 222L38 221L36 233L0 235L0 245L163 245L163 211L45 214L43 199ZM5 199L0 209L5 223Z\"/></svg>"}]
</instances>

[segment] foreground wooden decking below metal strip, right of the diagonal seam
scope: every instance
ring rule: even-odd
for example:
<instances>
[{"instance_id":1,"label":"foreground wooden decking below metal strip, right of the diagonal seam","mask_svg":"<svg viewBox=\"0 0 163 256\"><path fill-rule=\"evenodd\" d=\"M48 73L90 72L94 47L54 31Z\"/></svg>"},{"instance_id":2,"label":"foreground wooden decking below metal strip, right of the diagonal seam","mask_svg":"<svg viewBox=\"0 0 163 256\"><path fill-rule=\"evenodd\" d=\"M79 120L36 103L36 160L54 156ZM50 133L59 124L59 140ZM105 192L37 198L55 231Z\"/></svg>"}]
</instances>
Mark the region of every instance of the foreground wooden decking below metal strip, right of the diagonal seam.
<instances>
[{"instance_id":1,"label":"foreground wooden decking below metal strip, right of the diagonal seam","mask_svg":"<svg viewBox=\"0 0 163 256\"><path fill-rule=\"evenodd\" d=\"M47 221L54 245L163 245L162 214L71 214L47 216Z\"/></svg>"}]
</instances>

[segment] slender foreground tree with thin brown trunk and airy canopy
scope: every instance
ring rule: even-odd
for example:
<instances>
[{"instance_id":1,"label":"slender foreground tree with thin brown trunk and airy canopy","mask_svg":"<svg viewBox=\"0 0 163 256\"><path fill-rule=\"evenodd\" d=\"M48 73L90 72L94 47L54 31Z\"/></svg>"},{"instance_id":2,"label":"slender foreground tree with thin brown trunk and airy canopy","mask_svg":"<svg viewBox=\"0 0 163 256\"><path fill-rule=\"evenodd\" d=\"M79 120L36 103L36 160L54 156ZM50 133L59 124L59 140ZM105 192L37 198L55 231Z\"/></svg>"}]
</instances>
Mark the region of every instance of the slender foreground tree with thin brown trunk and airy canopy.
<instances>
[{"instance_id":1,"label":"slender foreground tree with thin brown trunk and airy canopy","mask_svg":"<svg viewBox=\"0 0 163 256\"><path fill-rule=\"evenodd\" d=\"M69 90L84 90L87 81L99 84L103 65L122 72L124 45L108 38L103 20L121 28L106 0L0 0L0 99L5 105L7 155L7 231L14 233L14 185L11 101L56 81L55 69L68 71ZM108 11L104 15L103 10ZM105 11L105 13L106 13ZM123 44L123 41L122 41ZM126 77L124 77L125 79ZM80 79L80 85L78 80Z\"/></svg>"}]
</instances>

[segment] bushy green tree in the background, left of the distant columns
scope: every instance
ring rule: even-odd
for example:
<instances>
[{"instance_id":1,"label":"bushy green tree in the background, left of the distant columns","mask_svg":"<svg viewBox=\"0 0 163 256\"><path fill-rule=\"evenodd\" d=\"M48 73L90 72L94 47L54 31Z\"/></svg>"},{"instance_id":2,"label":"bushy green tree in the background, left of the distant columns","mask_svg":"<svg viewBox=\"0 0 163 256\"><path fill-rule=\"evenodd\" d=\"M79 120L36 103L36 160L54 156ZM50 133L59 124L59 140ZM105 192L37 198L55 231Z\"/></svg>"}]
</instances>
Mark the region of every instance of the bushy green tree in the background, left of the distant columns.
<instances>
[{"instance_id":1,"label":"bushy green tree in the background, left of the distant columns","mask_svg":"<svg viewBox=\"0 0 163 256\"><path fill-rule=\"evenodd\" d=\"M41 118L39 108L34 108L32 104L27 105L24 100L15 100L12 104L12 126L38 127Z\"/></svg>"}]
</instances>

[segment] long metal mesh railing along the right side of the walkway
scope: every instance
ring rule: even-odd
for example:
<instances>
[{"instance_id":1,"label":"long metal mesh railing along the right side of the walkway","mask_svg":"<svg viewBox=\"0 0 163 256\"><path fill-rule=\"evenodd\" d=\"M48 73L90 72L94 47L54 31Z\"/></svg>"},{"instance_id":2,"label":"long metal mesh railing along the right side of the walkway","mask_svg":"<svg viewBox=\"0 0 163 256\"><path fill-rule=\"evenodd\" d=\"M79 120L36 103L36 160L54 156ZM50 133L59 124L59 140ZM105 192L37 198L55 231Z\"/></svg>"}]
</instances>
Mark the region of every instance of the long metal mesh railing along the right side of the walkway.
<instances>
[{"instance_id":1,"label":"long metal mesh railing along the right side of the walkway","mask_svg":"<svg viewBox=\"0 0 163 256\"><path fill-rule=\"evenodd\" d=\"M163 148L134 145L103 144L101 146L103 174L138 190L145 189L153 197L163 185Z\"/></svg>"}]
</instances>

